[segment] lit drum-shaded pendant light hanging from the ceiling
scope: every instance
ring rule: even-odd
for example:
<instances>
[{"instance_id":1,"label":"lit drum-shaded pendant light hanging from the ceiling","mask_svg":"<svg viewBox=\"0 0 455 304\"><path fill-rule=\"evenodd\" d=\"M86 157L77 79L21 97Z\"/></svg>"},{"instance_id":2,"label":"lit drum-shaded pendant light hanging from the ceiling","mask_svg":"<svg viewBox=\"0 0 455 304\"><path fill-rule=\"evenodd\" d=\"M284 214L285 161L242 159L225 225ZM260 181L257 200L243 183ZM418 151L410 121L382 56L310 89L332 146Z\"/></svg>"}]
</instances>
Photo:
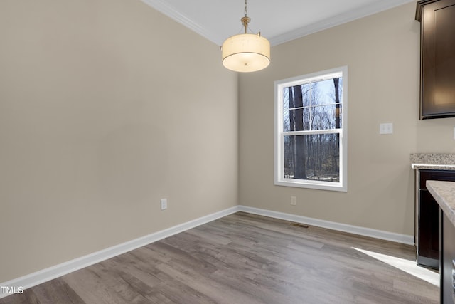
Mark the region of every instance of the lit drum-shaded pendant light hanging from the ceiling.
<instances>
[{"instance_id":1,"label":"lit drum-shaded pendant light hanging from the ceiling","mask_svg":"<svg viewBox=\"0 0 455 304\"><path fill-rule=\"evenodd\" d=\"M240 19L245 33L231 36L221 46L223 65L236 72L255 72L267 68L270 63L270 43L259 32L247 33L248 23L247 0L245 0L245 16Z\"/></svg>"}]
</instances>

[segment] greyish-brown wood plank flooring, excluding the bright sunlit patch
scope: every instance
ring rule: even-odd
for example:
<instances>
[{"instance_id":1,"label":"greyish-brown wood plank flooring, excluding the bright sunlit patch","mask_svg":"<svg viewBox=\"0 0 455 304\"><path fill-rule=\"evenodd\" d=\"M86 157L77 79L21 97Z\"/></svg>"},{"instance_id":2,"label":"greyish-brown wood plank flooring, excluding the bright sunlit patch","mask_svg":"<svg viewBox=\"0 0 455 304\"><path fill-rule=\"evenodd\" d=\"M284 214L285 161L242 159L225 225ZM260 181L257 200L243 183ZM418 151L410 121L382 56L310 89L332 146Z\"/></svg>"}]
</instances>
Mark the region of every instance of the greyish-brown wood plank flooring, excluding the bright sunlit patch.
<instances>
[{"instance_id":1,"label":"greyish-brown wood plank flooring, excluding the bright sunlit patch","mask_svg":"<svg viewBox=\"0 0 455 304\"><path fill-rule=\"evenodd\" d=\"M238 212L0 303L439 302L437 286L354 248L414 261L413 246Z\"/></svg>"}]
</instances>

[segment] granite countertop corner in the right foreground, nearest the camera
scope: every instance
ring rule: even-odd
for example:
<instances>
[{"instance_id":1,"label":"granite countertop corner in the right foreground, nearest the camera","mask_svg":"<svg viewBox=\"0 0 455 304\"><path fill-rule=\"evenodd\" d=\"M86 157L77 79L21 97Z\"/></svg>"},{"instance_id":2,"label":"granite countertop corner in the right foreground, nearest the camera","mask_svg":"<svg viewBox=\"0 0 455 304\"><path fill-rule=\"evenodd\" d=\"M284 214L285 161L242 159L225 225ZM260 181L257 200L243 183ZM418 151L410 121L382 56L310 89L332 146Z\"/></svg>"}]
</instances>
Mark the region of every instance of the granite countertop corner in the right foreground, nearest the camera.
<instances>
[{"instance_id":1,"label":"granite countertop corner in the right foreground, nearest the camera","mask_svg":"<svg viewBox=\"0 0 455 304\"><path fill-rule=\"evenodd\" d=\"M455 182L427 181L427 189L455 226Z\"/></svg>"}]
</instances>

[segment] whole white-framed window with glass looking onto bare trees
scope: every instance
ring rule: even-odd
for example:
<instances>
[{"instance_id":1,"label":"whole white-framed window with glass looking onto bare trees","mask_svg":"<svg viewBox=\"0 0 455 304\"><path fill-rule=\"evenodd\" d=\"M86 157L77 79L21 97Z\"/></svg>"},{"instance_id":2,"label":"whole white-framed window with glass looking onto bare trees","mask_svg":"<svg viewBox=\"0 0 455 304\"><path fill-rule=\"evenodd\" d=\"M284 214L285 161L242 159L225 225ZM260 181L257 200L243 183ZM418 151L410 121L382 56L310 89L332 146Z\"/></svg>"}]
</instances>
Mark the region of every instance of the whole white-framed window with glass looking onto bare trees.
<instances>
[{"instance_id":1,"label":"whole white-framed window with glass looking onto bare trees","mask_svg":"<svg viewBox=\"0 0 455 304\"><path fill-rule=\"evenodd\" d=\"M348 68L275 85L275 184L347 191Z\"/></svg>"}]
</instances>

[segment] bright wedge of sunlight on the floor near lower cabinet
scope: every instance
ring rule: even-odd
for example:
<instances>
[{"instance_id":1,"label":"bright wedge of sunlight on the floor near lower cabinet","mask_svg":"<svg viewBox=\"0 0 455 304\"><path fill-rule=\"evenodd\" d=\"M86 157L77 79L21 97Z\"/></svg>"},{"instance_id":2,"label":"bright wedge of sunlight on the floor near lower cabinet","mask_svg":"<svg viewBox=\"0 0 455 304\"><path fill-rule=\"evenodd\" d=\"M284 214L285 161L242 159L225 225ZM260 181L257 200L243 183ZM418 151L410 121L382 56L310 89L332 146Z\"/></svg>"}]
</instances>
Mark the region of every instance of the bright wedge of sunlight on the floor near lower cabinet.
<instances>
[{"instance_id":1,"label":"bright wedge of sunlight on the floor near lower cabinet","mask_svg":"<svg viewBox=\"0 0 455 304\"><path fill-rule=\"evenodd\" d=\"M405 260L404 258L395 258L395 256L387 256L386 254L354 247L353 249L360 251L361 253L365 253L367 256L371 256L372 258L387 263L390 266L398 268L402 271L405 271L406 273L409 273L412 276L421 278L422 280L439 287L439 273L430 271L429 269L421 266L417 266L417 263L415 261Z\"/></svg>"}]
</instances>

